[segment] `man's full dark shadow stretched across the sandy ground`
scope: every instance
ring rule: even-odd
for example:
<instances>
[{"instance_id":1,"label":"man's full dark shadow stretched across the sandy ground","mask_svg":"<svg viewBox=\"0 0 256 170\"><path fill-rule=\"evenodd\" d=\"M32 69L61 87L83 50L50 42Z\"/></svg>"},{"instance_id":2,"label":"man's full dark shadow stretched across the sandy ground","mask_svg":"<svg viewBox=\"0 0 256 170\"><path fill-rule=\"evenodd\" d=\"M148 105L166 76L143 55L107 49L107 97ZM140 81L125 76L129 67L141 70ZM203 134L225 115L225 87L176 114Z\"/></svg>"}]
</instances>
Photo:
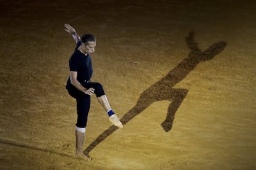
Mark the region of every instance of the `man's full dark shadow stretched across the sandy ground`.
<instances>
[{"instance_id":1,"label":"man's full dark shadow stretched across the sandy ground","mask_svg":"<svg viewBox=\"0 0 256 170\"><path fill-rule=\"evenodd\" d=\"M160 100L169 100L171 101L171 104L169 105L166 119L161 123L161 126L166 132L171 130L175 113L188 92L187 89L174 89L173 86L182 81L182 79L184 79L198 63L213 59L215 55L219 54L223 51L224 47L226 47L226 42L220 41L202 52L194 40L194 32L189 33L186 37L186 42L190 49L189 56L182 60L182 62L174 67L173 70L169 71L168 75L161 78L160 81L156 82L140 94L136 105L120 119L122 124L126 124L130 119L139 115L139 113L149 107L151 103ZM89 156L88 154L96 147L96 145L100 144L100 142L105 140L106 137L111 135L117 129L118 127L116 126L110 126L106 131L101 133L100 136L98 136L92 144L84 150L85 155Z\"/></svg>"}]
</instances>

